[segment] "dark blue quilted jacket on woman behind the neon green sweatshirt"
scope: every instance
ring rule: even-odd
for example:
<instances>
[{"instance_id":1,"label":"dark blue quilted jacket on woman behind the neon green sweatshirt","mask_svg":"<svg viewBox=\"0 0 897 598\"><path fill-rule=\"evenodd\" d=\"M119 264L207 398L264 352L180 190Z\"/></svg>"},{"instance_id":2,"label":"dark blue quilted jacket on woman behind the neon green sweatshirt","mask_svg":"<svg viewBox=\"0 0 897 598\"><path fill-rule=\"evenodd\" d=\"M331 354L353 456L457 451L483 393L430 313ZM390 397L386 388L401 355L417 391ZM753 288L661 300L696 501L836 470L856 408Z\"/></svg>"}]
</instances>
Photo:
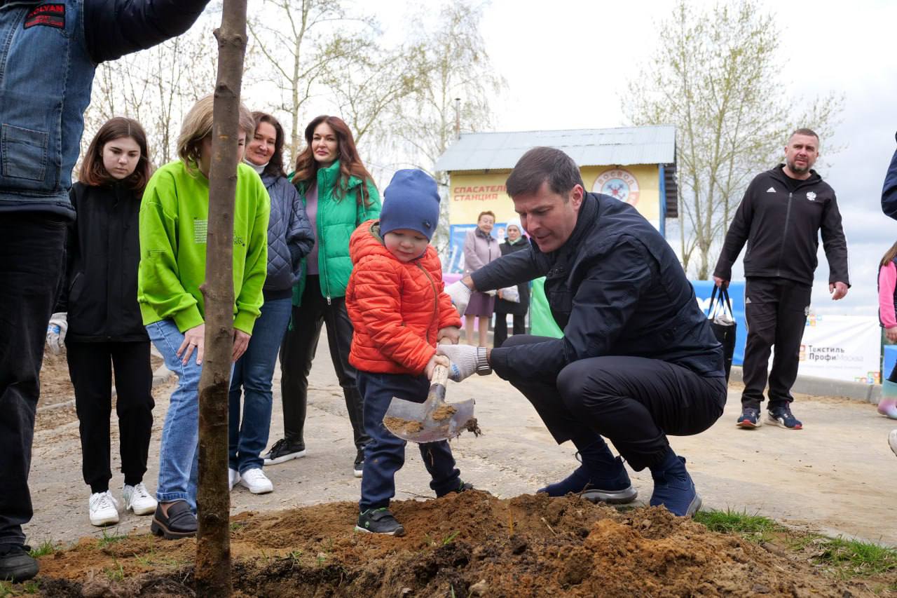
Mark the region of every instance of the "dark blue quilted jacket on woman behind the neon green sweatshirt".
<instances>
[{"instance_id":1,"label":"dark blue quilted jacket on woman behind the neon green sweatshirt","mask_svg":"<svg viewBox=\"0 0 897 598\"><path fill-rule=\"evenodd\" d=\"M309 216L299 192L283 176L262 175L262 182L271 196L271 217L268 219L268 276L263 291L292 292L299 280L302 258L314 245Z\"/></svg>"}]
</instances>

